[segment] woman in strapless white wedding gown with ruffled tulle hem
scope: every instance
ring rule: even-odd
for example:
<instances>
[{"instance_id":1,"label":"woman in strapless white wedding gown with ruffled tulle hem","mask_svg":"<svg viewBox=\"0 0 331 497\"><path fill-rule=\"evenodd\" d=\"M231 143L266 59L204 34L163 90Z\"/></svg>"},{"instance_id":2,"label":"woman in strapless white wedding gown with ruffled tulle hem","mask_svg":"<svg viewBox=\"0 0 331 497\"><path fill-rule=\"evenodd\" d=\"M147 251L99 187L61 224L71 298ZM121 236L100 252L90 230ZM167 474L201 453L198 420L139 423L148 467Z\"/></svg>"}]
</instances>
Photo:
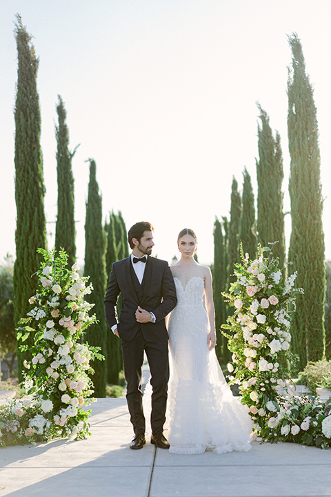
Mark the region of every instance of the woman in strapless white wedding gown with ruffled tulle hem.
<instances>
[{"instance_id":1,"label":"woman in strapless white wedding gown with ruffled tulle hem","mask_svg":"<svg viewBox=\"0 0 331 497\"><path fill-rule=\"evenodd\" d=\"M252 421L225 381L215 354L212 275L194 260L197 237L178 237L181 260L172 266L177 306L170 314L167 425L172 454L248 451ZM205 306L203 305L203 296Z\"/></svg>"}]
</instances>

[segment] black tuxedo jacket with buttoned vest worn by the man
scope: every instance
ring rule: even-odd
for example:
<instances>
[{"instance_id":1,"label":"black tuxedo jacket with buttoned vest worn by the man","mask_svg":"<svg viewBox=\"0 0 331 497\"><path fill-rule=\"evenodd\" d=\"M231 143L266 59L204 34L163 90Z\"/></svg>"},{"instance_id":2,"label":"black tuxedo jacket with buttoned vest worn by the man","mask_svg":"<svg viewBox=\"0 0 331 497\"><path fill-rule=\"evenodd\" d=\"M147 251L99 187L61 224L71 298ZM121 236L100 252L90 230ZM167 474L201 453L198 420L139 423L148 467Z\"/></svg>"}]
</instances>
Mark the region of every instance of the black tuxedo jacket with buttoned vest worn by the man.
<instances>
[{"instance_id":1,"label":"black tuxedo jacket with buttoned vest worn by the man","mask_svg":"<svg viewBox=\"0 0 331 497\"><path fill-rule=\"evenodd\" d=\"M121 294L121 313L118 318L119 294ZM168 340L164 318L177 304L174 279L168 262L149 255L141 284L132 267L131 257L114 262L104 302L108 325L112 328L117 324L117 331L123 340L132 340L139 327L143 338L148 342ZM152 312L156 321L137 322L135 312L138 306Z\"/></svg>"}]
</instances>

